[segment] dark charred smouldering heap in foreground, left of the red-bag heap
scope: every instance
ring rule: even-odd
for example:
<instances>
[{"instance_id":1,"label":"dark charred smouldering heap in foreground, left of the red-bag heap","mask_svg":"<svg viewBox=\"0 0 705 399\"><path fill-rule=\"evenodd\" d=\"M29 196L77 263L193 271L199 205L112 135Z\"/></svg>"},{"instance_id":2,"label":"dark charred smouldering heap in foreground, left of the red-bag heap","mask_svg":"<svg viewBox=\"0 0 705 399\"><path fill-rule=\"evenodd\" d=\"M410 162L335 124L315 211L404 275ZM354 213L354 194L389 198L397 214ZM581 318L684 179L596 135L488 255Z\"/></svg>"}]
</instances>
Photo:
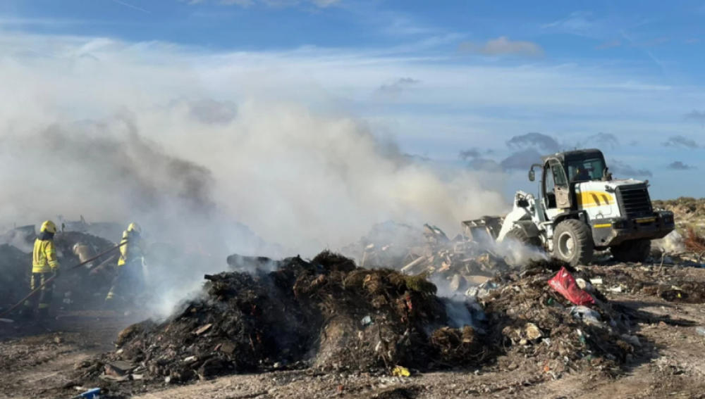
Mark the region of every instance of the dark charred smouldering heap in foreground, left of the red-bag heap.
<instances>
[{"instance_id":1,"label":"dark charred smouldering heap in foreground, left of the red-bag heap","mask_svg":"<svg viewBox=\"0 0 705 399\"><path fill-rule=\"evenodd\" d=\"M85 374L191 381L300 367L391 372L468 365L486 351L472 327L449 327L446 303L424 277L364 270L327 251L276 264L274 272L207 275L200 298L164 323L123 331L120 349Z\"/></svg>"}]
</instances>

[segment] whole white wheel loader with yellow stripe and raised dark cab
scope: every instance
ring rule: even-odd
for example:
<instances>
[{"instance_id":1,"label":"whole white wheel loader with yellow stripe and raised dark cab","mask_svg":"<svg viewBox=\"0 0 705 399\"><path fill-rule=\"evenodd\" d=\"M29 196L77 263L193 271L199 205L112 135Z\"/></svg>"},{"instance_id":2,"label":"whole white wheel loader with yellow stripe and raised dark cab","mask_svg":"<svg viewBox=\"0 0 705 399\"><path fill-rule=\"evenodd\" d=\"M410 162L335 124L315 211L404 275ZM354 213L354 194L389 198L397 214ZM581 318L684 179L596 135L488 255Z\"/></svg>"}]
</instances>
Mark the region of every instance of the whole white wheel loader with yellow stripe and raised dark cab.
<instances>
[{"instance_id":1,"label":"whole white wheel loader with yellow stripe and raised dark cab","mask_svg":"<svg viewBox=\"0 0 705 399\"><path fill-rule=\"evenodd\" d=\"M620 262L644 262L651 240L675 229L673 213L654 210L649 181L613 179L599 149L554 153L531 166L539 170L539 198L517 191L505 217L462 222L475 241L513 239L571 265L587 265L594 251L611 251Z\"/></svg>"}]
</instances>

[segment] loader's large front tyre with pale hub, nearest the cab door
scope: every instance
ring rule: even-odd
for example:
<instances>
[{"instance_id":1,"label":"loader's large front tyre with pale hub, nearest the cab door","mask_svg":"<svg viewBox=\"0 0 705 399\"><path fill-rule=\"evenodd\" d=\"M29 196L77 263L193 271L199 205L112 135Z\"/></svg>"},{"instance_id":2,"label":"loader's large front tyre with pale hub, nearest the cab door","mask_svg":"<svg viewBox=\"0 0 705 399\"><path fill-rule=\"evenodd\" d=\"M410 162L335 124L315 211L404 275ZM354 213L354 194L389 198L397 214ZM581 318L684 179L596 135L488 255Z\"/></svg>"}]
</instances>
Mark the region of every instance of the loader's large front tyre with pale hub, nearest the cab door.
<instances>
[{"instance_id":1,"label":"loader's large front tyre with pale hub, nearest the cab door","mask_svg":"<svg viewBox=\"0 0 705 399\"><path fill-rule=\"evenodd\" d=\"M563 220L553 232L553 256L572 267L589 264L593 251L590 228L580 220Z\"/></svg>"}]
</instances>

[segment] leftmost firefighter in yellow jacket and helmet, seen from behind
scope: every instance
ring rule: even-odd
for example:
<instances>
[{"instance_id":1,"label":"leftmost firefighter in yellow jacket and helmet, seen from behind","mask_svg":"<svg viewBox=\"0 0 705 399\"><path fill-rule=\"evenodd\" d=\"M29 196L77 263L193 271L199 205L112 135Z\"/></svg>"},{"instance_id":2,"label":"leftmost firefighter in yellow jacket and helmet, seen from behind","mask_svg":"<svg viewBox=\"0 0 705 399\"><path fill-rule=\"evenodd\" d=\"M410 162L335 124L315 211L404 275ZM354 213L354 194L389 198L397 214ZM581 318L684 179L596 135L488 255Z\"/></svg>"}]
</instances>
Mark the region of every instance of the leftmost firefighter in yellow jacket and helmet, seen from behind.
<instances>
[{"instance_id":1,"label":"leftmost firefighter in yellow jacket and helmet, seen from behind","mask_svg":"<svg viewBox=\"0 0 705 399\"><path fill-rule=\"evenodd\" d=\"M30 286L32 291L52 276L59 276L59 260L56 258L54 234L56 234L54 222L47 220L42 223L39 237L35 240L35 249L32 251L32 282ZM54 281L42 286L42 289L39 290L39 315L46 316L49 313L49 305L53 295ZM31 296L25 301L24 315L31 316L34 312L35 298L36 296Z\"/></svg>"}]
</instances>

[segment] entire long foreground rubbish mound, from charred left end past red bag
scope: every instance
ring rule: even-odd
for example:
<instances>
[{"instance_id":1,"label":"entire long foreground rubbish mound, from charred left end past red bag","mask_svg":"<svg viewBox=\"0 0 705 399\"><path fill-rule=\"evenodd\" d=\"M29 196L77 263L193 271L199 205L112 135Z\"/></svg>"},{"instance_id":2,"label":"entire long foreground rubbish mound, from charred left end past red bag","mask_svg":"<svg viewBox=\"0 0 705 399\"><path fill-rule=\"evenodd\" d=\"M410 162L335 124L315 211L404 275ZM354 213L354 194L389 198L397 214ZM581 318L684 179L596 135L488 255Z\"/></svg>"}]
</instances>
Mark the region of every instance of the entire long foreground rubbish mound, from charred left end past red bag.
<instances>
[{"instance_id":1,"label":"entire long foreground rubbish mound, from charred left end past red bag","mask_svg":"<svg viewBox=\"0 0 705 399\"><path fill-rule=\"evenodd\" d=\"M405 374L503 354L554 376L612 373L640 345L599 291L577 288L553 261L458 302L436 296L424 275L367 270L329 251L310 262L228 260L240 271L207 275L201 296L165 322L125 329L118 350L79 365L78 379L163 384L307 367Z\"/></svg>"}]
</instances>

